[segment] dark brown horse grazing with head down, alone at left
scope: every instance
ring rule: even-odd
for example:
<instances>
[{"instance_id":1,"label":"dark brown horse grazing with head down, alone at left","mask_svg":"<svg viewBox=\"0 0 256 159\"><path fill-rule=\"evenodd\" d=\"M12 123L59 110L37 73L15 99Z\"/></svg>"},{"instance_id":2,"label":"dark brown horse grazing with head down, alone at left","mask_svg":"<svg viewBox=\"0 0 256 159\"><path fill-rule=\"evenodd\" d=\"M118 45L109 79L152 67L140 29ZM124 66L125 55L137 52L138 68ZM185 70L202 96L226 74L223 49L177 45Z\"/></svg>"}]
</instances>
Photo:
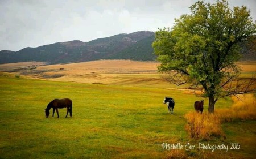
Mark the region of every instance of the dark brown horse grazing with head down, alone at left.
<instances>
[{"instance_id":1,"label":"dark brown horse grazing with head down, alone at left","mask_svg":"<svg viewBox=\"0 0 256 159\"><path fill-rule=\"evenodd\" d=\"M69 98L64 98L61 100L55 99L55 100L49 102L49 104L47 105L47 108L45 109L46 110L46 118L49 117L49 110L51 108L53 109L52 117L54 117L54 112L56 110L58 118L59 118L60 116L59 116L58 108L61 109L61 108L65 108L65 107L67 107L66 118L68 116L68 112L69 112L69 115L72 117L72 100L70 100Z\"/></svg>"}]
</instances>

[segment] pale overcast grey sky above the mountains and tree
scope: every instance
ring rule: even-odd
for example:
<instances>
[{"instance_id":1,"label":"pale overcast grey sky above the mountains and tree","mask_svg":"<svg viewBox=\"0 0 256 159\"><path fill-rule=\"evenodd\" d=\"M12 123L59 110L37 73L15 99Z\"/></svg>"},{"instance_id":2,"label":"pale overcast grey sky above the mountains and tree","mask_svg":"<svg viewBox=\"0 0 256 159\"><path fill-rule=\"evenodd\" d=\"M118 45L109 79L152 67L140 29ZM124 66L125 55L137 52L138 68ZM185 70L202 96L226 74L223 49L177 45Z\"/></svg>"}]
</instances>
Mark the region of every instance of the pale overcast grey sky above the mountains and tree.
<instances>
[{"instance_id":1,"label":"pale overcast grey sky above the mountains and tree","mask_svg":"<svg viewBox=\"0 0 256 159\"><path fill-rule=\"evenodd\" d=\"M0 50L18 51L55 42L119 33L158 31L190 14L196 0L0 0ZM205 0L214 3L214 0ZM255 0L229 0L247 6L256 20Z\"/></svg>"}]
</instances>

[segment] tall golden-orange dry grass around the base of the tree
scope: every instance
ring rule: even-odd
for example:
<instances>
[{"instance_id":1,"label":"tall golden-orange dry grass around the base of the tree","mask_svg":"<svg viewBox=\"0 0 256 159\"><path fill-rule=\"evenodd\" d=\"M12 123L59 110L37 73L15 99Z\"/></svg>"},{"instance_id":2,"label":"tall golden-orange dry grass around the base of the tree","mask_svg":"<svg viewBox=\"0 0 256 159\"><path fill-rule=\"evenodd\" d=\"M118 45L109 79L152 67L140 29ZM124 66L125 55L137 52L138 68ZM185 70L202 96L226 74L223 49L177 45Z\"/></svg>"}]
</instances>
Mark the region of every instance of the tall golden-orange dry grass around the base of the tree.
<instances>
[{"instance_id":1,"label":"tall golden-orange dry grass around the base of the tree","mask_svg":"<svg viewBox=\"0 0 256 159\"><path fill-rule=\"evenodd\" d=\"M233 121L246 121L256 119L256 100L254 94L232 97L234 101L231 108L217 109L214 114L199 114L191 112L185 114L188 123L185 130L191 138L209 140L212 137L224 137L221 123Z\"/></svg>"}]
</instances>

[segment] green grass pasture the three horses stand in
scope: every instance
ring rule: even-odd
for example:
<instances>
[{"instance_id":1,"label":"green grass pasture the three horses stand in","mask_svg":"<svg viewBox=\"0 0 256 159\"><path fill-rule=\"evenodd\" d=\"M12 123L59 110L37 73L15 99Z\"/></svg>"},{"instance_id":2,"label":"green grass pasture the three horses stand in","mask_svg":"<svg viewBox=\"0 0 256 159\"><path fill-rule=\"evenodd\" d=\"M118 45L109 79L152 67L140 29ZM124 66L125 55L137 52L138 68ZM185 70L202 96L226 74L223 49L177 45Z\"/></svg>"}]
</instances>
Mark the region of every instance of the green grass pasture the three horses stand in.
<instances>
[{"instance_id":1,"label":"green grass pasture the three horses stand in","mask_svg":"<svg viewBox=\"0 0 256 159\"><path fill-rule=\"evenodd\" d=\"M227 139L189 139L184 115L199 100L183 91L125 85L81 84L0 74L0 158L255 158L255 121L226 123ZM175 99L174 115L162 104ZM71 98L73 118L45 118L54 98ZM207 112L208 102L205 102ZM232 100L221 100L228 108ZM246 130L246 128L248 128ZM242 132L241 132L242 131ZM245 139L251 139L249 141ZM165 150L163 143L240 143L240 149ZM208 156L208 158L209 158ZM176 157L177 158L177 157Z\"/></svg>"}]
</instances>

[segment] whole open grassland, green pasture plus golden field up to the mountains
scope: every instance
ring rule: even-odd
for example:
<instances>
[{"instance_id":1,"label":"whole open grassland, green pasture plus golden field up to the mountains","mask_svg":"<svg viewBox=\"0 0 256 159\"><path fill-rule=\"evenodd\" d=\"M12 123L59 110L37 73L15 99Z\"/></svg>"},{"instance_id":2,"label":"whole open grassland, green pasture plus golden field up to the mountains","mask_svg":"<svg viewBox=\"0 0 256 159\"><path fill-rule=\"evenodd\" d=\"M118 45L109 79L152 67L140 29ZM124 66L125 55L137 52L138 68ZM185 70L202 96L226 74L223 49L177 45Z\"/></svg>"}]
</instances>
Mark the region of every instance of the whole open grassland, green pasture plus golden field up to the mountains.
<instances>
[{"instance_id":1,"label":"whole open grassland, green pasture plus golden field up to the mountains","mask_svg":"<svg viewBox=\"0 0 256 159\"><path fill-rule=\"evenodd\" d=\"M226 139L191 139L184 115L193 112L193 101L201 98L185 86L164 81L157 62L46 64L0 65L5 71L0 72L2 158L255 158L255 120L224 123ZM256 62L237 65L243 77L256 72ZM162 104L165 96L175 99L173 115ZM73 101L73 118L64 118L65 109L59 109L59 119L56 113L45 118L47 104L64 97ZM207 105L205 101L204 113ZM232 98L220 100L216 111L230 114L225 112L232 105ZM197 148L166 150L163 143L190 143ZM212 152L199 149L199 143L224 144L229 149ZM230 149L231 143L238 143L240 149Z\"/></svg>"}]
</instances>

